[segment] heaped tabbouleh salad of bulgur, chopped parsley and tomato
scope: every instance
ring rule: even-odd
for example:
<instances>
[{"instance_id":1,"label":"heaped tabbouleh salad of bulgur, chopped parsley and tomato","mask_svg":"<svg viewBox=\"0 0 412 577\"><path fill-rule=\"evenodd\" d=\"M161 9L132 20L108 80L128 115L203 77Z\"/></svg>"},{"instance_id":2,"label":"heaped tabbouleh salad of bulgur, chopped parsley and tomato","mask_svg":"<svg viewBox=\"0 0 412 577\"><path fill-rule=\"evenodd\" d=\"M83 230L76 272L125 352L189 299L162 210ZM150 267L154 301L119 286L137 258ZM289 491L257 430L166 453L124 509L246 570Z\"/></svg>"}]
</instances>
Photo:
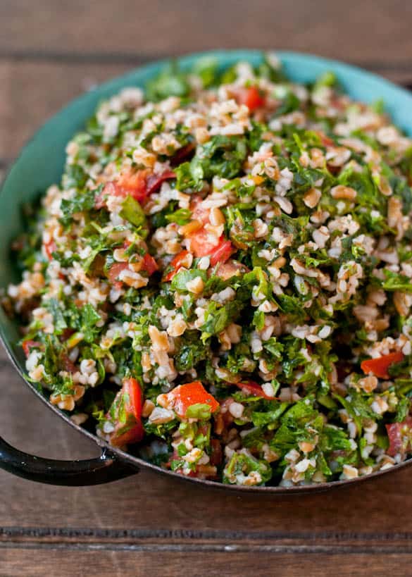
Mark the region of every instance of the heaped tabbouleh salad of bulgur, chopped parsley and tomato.
<instances>
[{"instance_id":1,"label":"heaped tabbouleh salad of bulgur, chopped parsley and tomato","mask_svg":"<svg viewBox=\"0 0 412 577\"><path fill-rule=\"evenodd\" d=\"M30 380L184 476L392 467L412 452L411 184L412 140L332 73L171 64L101 103L26 211L3 304Z\"/></svg>"}]
</instances>

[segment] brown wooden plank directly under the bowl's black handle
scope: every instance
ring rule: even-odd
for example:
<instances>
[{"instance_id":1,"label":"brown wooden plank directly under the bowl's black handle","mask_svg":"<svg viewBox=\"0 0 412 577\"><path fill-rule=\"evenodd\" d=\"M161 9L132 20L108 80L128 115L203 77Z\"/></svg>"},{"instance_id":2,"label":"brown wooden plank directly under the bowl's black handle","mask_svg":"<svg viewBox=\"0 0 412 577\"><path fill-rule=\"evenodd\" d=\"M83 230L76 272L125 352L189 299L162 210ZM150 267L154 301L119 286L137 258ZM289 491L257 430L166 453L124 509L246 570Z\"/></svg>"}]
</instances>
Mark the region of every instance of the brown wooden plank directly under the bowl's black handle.
<instances>
[{"instance_id":1,"label":"brown wooden plank directly under the bowl's black handle","mask_svg":"<svg viewBox=\"0 0 412 577\"><path fill-rule=\"evenodd\" d=\"M4 353L0 359L1 434L9 442L55 458L96 454L89 440L32 395ZM93 488L39 485L0 471L0 527L139 529L161 539L170 535L156 531L169 530L177 531L182 540L185 533L179 531L190 535L220 531L221 538L234 541L288 534L295 540L314 534L331 538L335 533L357 535L356 539L366 533L390 540L394 534L412 533L411 475L408 469L339 492L263 498L206 490L148 471ZM139 533L133 535L127 537L139 538ZM116 534L108 536L116 538Z\"/></svg>"}]
</instances>

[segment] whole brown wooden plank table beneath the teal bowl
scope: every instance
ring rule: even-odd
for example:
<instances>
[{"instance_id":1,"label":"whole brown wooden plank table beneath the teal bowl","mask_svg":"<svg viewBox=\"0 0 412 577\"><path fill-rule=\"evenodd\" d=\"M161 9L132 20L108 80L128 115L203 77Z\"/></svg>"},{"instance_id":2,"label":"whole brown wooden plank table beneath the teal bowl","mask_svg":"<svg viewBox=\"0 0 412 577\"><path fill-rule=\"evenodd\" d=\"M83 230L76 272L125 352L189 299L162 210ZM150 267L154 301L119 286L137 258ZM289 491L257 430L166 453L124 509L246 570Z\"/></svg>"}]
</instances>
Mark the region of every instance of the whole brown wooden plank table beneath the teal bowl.
<instances>
[{"instance_id":1,"label":"whole brown wooden plank table beneath the teal bowl","mask_svg":"<svg viewBox=\"0 0 412 577\"><path fill-rule=\"evenodd\" d=\"M213 47L311 51L412 85L404 0L3 0L0 172L46 117L96 82ZM0 353L0 433L63 459L96 448L48 411ZM142 472L55 488L0 471L0 575L405 576L412 471L299 497L235 497Z\"/></svg>"}]
</instances>

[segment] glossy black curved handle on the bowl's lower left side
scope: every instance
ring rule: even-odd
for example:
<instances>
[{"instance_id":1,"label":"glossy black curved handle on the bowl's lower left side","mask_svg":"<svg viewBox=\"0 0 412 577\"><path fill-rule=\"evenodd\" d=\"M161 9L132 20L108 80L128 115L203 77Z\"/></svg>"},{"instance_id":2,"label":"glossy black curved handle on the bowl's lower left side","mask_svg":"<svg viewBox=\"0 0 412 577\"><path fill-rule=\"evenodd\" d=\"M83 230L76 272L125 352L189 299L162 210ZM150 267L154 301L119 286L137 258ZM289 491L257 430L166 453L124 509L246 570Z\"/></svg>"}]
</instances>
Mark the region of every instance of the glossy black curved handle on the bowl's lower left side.
<instances>
[{"instance_id":1,"label":"glossy black curved handle on the bowl's lower left side","mask_svg":"<svg viewBox=\"0 0 412 577\"><path fill-rule=\"evenodd\" d=\"M101 456L82 461L58 461L23 453L0 437L0 469L24 479L49 485L101 485L139 472L102 449Z\"/></svg>"}]
</instances>

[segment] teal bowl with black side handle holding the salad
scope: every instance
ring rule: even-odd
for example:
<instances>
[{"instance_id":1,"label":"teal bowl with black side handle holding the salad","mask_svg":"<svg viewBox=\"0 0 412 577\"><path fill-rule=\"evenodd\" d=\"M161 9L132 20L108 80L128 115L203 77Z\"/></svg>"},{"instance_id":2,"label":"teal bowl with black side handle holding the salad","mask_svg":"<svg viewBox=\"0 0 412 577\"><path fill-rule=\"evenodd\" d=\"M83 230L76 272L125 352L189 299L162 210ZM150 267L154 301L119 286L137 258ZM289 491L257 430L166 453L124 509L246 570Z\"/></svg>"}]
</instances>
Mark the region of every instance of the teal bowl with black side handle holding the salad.
<instances>
[{"instance_id":1,"label":"teal bowl with black side handle holding the salad","mask_svg":"<svg viewBox=\"0 0 412 577\"><path fill-rule=\"evenodd\" d=\"M261 61L262 53L256 50L211 51L183 56L178 59L178 62L183 69L187 69L204 56L212 56L218 61L221 68L226 68L239 60L256 65ZM412 95L405 89L360 68L318 56L282 51L277 52L277 56L282 61L287 76L295 82L312 82L322 73L332 70L352 98L366 103L382 99L394 123L407 135L412 136ZM68 141L75 132L84 127L86 120L92 116L101 100L111 97L127 86L144 87L145 83L157 75L165 65L166 61L158 61L142 66L83 94L48 120L23 148L20 156L9 170L0 190L0 289L4 289L8 283L18 280L18 273L9 247L13 238L23 230L22 206L33 201L40 192L46 190L53 182L59 182L65 160L65 146ZM361 480L375 478L412 463L412 460L405 461L387 471L373 473L370 476L354 480L291 488L239 488L232 485L221 485L210 480L186 478L170 471L166 472L157 466L146 463L139 457L108 447L89 431L75 426L68 416L53 407L35 385L29 383L25 378L23 354L19 349L20 347L15 345L19 338L18 328L6 317L1 307L0 335L13 365L33 392L39 395L47 406L58 413L67 423L82 431L83 434L102 447L102 454L99 459L51 461L23 454L0 438L0 468L31 480L61 485L89 485L106 483L109 480L134 474L139 467L149 467L191 483L224 488L225 490L290 494L292 492L313 492L349 483L358 483ZM6 386L6 383L2 383L2 385ZM16 418L18 418L17 415Z\"/></svg>"}]
</instances>

